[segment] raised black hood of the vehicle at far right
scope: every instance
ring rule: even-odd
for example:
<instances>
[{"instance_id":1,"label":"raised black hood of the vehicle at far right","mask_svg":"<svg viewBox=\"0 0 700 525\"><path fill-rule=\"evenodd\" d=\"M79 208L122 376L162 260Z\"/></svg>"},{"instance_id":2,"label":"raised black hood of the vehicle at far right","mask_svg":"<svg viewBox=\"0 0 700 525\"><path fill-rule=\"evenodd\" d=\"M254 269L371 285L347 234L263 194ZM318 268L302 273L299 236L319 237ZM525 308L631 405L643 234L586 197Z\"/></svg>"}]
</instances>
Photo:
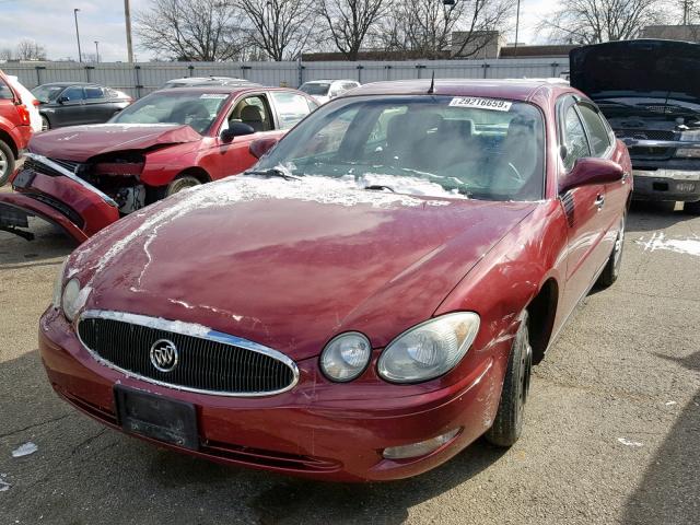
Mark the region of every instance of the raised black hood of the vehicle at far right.
<instances>
[{"instance_id":1,"label":"raised black hood of the vehicle at far right","mask_svg":"<svg viewBox=\"0 0 700 525\"><path fill-rule=\"evenodd\" d=\"M646 96L700 102L700 45L621 40L574 48L571 85L593 100Z\"/></svg>"}]
</instances>

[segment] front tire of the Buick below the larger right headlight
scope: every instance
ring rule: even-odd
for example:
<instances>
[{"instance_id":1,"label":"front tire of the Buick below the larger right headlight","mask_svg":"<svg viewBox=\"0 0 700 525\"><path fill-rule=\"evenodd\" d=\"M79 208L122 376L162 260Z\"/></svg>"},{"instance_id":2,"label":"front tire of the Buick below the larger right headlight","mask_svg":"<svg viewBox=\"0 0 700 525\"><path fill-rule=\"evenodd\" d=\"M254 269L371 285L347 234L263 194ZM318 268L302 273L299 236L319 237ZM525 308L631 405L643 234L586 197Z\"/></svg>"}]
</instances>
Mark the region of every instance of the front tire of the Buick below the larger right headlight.
<instances>
[{"instance_id":1,"label":"front tire of the Buick below the larger right headlight","mask_svg":"<svg viewBox=\"0 0 700 525\"><path fill-rule=\"evenodd\" d=\"M485 438L493 445L512 446L523 432L525 404L529 392L533 370L533 347L529 343L527 311L521 316L521 326L515 334L508 369L503 378L503 389L493 425Z\"/></svg>"}]
</instances>

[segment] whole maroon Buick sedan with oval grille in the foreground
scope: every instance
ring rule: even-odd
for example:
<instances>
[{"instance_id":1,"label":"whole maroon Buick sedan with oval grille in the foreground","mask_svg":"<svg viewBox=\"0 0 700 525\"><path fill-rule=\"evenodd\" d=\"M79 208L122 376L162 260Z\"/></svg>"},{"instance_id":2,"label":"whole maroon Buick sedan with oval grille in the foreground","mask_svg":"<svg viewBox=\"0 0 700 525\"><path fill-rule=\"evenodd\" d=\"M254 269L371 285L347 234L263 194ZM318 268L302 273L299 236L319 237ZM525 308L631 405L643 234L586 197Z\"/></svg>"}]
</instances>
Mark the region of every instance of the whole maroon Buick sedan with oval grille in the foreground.
<instances>
[{"instance_id":1,"label":"whole maroon Buick sedan with oval grille in the foreground","mask_svg":"<svg viewBox=\"0 0 700 525\"><path fill-rule=\"evenodd\" d=\"M569 86L364 85L79 247L40 319L48 377L112 428L323 479L510 446L532 364L618 276L630 173Z\"/></svg>"}]
</instances>

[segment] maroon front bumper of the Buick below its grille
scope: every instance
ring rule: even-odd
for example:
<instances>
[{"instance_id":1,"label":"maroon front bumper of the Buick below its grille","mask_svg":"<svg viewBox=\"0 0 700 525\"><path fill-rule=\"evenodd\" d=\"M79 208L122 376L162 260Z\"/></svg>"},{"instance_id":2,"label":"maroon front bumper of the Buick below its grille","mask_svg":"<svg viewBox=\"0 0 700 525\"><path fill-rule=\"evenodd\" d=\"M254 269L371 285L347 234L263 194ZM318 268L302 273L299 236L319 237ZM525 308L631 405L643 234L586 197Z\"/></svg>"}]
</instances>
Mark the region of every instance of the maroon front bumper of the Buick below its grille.
<instances>
[{"instance_id":1,"label":"maroon front bumper of the Buick below its grille","mask_svg":"<svg viewBox=\"0 0 700 525\"><path fill-rule=\"evenodd\" d=\"M504 360L483 361L450 387L374 386L316 382L317 359L298 362L301 381L283 394L236 398L194 394L129 377L95 361L63 316L49 308L40 320L39 351L54 389L74 407L120 430L115 384L191 402L200 446L155 442L218 463L336 481L416 476L453 457L491 424L498 409ZM359 396L359 392L364 394ZM389 460L388 446L460 432L418 458ZM153 441L147 439L147 441Z\"/></svg>"}]
</instances>

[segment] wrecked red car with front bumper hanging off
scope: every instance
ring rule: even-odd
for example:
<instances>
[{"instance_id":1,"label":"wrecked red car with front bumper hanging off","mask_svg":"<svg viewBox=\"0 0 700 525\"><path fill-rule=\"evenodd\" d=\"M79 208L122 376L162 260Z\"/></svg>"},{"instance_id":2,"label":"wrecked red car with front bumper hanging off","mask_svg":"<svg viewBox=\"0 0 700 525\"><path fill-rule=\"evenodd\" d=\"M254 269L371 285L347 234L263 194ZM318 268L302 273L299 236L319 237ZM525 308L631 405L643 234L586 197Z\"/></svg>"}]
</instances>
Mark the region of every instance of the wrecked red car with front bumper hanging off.
<instances>
[{"instance_id":1,"label":"wrecked red car with front bumper hanging off","mask_svg":"<svg viewBox=\"0 0 700 525\"><path fill-rule=\"evenodd\" d=\"M31 141L15 192L0 195L0 229L32 238L31 215L77 242L180 189L241 173L253 140L279 139L318 104L282 88L205 86L144 96L107 124Z\"/></svg>"}]
</instances>

